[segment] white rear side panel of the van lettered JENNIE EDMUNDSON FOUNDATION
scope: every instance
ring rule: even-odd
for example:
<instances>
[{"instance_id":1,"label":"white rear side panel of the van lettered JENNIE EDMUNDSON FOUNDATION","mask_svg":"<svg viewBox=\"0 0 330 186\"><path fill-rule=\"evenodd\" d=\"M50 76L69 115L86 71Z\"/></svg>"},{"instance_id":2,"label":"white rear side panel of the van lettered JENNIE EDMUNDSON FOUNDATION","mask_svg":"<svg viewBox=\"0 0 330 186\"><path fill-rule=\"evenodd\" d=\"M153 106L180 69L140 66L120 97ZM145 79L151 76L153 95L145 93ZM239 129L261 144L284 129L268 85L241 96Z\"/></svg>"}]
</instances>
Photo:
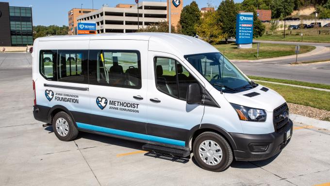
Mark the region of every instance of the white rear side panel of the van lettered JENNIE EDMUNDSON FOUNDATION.
<instances>
[{"instance_id":1,"label":"white rear side panel of the van lettered JENNIE EDMUNDSON FOUNDATION","mask_svg":"<svg viewBox=\"0 0 330 186\"><path fill-rule=\"evenodd\" d=\"M60 51L68 51L67 53L70 53L70 51L83 51L84 57L88 59L88 47L89 47L89 40L76 40L76 41L39 41L37 44L37 48L33 51L33 80L35 81L35 94L36 94L36 106L39 108L39 115L43 116L45 113L49 112L49 109L54 107L55 105L61 105L65 107L70 112L80 112L85 113L83 116L84 120L89 120L88 113L90 112L90 105L89 105L89 91L88 91L88 84L84 83L70 83L68 82L60 82L60 81L50 81L47 80L41 73L40 73L40 51L49 51L52 50L54 52L57 52L57 56ZM86 52L87 51L87 52ZM66 57L67 54L64 54L64 57L62 57L62 61L64 66L62 66L63 70L70 69L70 65L68 60L68 57ZM53 61L52 63L59 63L59 58L57 61ZM86 63L85 61L84 63ZM70 62L71 63L71 62ZM72 62L73 64L74 62ZM71 65L72 65L71 64ZM85 64L86 65L86 64ZM77 65L77 68L79 68L81 71L82 65ZM44 68L52 68L47 66L46 63L44 63ZM57 68L56 71L60 71L60 68ZM56 73L57 73L56 72ZM53 76L58 75L53 72ZM71 74L68 74L68 77ZM71 72L70 72L71 73ZM83 72L82 72L83 73ZM77 78L79 78L81 75L77 74ZM73 77L73 76L72 76ZM42 109L42 110L41 110ZM48 110L48 111L47 111ZM49 113L48 113L49 115ZM79 119L82 119L82 117L75 117L73 115L74 119L76 121L79 121Z\"/></svg>"}]
</instances>

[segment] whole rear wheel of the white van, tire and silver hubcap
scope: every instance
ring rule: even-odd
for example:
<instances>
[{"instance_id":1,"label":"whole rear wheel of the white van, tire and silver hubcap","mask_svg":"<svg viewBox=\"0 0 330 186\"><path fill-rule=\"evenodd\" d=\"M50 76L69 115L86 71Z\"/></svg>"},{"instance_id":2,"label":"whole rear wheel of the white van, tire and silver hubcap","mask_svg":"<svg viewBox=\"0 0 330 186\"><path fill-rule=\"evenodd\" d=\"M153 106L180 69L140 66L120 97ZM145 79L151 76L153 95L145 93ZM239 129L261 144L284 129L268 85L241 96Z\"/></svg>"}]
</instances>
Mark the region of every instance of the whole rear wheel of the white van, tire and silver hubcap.
<instances>
[{"instance_id":1,"label":"whole rear wheel of the white van, tire and silver hubcap","mask_svg":"<svg viewBox=\"0 0 330 186\"><path fill-rule=\"evenodd\" d=\"M78 135L72 118L66 112L59 112L53 118L53 131L61 141L71 141Z\"/></svg>"}]
</instances>

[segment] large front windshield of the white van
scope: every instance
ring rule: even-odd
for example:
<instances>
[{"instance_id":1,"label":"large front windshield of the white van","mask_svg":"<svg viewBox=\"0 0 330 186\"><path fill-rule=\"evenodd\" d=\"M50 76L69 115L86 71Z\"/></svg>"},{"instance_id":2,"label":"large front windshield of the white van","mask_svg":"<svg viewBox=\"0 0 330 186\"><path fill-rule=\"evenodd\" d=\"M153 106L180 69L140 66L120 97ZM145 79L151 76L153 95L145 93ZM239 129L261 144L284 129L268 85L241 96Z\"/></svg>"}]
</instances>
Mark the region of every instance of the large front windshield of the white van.
<instances>
[{"instance_id":1,"label":"large front windshield of the white van","mask_svg":"<svg viewBox=\"0 0 330 186\"><path fill-rule=\"evenodd\" d=\"M185 55L184 58L218 90L234 93L256 86L220 52Z\"/></svg>"}]
</instances>

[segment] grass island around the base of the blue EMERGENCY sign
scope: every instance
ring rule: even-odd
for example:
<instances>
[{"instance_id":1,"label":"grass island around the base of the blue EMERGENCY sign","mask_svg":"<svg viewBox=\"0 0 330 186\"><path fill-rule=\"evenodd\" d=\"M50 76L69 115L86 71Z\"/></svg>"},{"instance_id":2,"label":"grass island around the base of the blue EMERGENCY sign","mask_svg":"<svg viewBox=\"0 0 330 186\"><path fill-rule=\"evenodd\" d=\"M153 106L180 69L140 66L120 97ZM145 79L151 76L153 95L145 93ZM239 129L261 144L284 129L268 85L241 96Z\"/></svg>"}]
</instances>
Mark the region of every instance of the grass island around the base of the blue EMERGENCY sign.
<instances>
[{"instance_id":1,"label":"grass island around the base of the blue EMERGENCY sign","mask_svg":"<svg viewBox=\"0 0 330 186\"><path fill-rule=\"evenodd\" d=\"M330 37L330 35L329 35ZM237 49L236 43L214 45L225 56L234 60L255 60L273 57L294 55L296 45L267 44L260 43L259 56L257 58L257 44L252 45L252 49ZM300 53L306 53L314 50L313 46L300 46Z\"/></svg>"}]
</instances>

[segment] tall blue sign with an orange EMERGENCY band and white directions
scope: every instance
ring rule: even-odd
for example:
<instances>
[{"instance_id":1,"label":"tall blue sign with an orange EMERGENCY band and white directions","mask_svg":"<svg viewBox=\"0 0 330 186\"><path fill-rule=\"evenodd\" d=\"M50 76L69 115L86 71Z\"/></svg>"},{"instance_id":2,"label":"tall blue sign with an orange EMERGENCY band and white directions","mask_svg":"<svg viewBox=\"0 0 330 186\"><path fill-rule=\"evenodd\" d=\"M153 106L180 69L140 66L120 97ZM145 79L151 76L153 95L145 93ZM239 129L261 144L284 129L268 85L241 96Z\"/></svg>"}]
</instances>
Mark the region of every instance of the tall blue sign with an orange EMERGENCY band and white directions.
<instances>
[{"instance_id":1,"label":"tall blue sign with an orange EMERGENCY band and white directions","mask_svg":"<svg viewBox=\"0 0 330 186\"><path fill-rule=\"evenodd\" d=\"M250 44L253 40L253 13L243 12L236 16L236 44Z\"/></svg>"}]
</instances>

